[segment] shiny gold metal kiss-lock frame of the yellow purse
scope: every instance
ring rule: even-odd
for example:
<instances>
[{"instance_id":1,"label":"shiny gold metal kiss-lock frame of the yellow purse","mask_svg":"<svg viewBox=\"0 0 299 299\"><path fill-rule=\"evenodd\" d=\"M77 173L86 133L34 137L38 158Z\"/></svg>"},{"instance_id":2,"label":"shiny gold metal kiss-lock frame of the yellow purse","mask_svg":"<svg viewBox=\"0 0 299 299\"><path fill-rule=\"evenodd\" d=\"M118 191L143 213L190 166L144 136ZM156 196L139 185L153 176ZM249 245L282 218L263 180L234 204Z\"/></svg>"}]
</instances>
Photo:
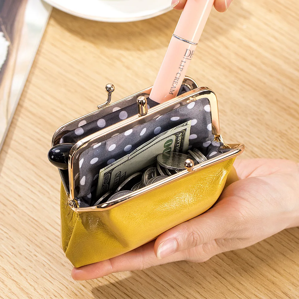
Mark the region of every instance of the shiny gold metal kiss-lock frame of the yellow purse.
<instances>
[{"instance_id":1,"label":"shiny gold metal kiss-lock frame of the yellow purse","mask_svg":"<svg viewBox=\"0 0 299 299\"><path fill-rule=\"evenodd\" d=\"M69 205L76 213L83 213L83 212L92 212L92 211L101 211L101 210L108 210L111 209L117 205L120 205L122 202L131 200L135 198L135 196L140 195L141 193L147 193L152 190L155 190L159 188L162 184L167 185L170 182L173 182L174 180L181 179L183 176L187 176L192 171L198 171L200 169L210 167L214 164L217 164L219 162L231 159L236 157L237 155L241 154L244 150L243 144L230 144L230 145L224 145L224 148L231 149L230 151L219 155L217 157L211 158L205 162L202 162L200 164L197 164L192 167L192 163L190 165L186 165L186 170L177 173L173 176L170 176L164 180L161 180L155 184L149 185L148 187L144 187L140 190L134 191L126 196L122 196L118 199L115 199L108 203L103 203L97 206L87 207L87 208L78 208L78 202L77 202L77 195L80 191L80 184L79 184L79 158L80 155L89 147L92 147L93 145L100 143L102 141L105 141L112 136L118 135L120 133L126 132L129 129L133 129L135 126L144 124L149 122L152 119L155 119L161 115L166 114L167 112L170 112L174 109L179 108L180 106L187 105L191 102L194 102L196 100L200 99L208 99L211 106L211 116L212 116L212 133L215 136L214 141L221 141L222 136L220 134L220 124L219 124L219 112L218 112L218 102L216 94L206 88L206 87L198 87L196 82L190 78L185 77L183 84L186 85L190 91L181 94L180 96L169 100L167 102L164 102L162 104L159 104L157 106L154 106L148 110L147 113L145 113L145 110L142 110L142 103L144 99L149 96L150 91L152 87L149 87L147 89L144 89L142 91L139 91L135 94L132 94L128 97L125 97L115 103L110 104L111 100L111 93L114 90L114 86L110 84L106 90L108 92L108 99L106 103L99 105L98 109L86 114L80 118L77 118L75 120L72 120L71 122L66 123L65 125L61 126L57 131L55 132L53 139L52 139L52 146L59 144L60 138L63 137L63 135L66 132L69 132L71 130L74 130L78 127L78 124L83 119L86 120L86 122L91 122L93 120L102 118L105 115L108 115L109 113L113 112L113 108L118 107L120 109L125 108L129 105L132 105L138 102L138 109L139 114L136 114L130 118L127 118L125 120L122 120L112 126L109 126L107 128L104 128L98 132L95 132L85 138L82 138L80 141L78 141L71 149L69 154L69 161L68 161L68 173L67 170L59 170L60 176L62 178L62 183L64 185L65 191L69 198ZM143 105L144 106L144 105ZM143 113L141 113L143 111ZM137 111L136 111L137 112ZM190 167L188 167L190 166ZM67 175L68 174L68 175Z\"/></svg>"}]
</instances>

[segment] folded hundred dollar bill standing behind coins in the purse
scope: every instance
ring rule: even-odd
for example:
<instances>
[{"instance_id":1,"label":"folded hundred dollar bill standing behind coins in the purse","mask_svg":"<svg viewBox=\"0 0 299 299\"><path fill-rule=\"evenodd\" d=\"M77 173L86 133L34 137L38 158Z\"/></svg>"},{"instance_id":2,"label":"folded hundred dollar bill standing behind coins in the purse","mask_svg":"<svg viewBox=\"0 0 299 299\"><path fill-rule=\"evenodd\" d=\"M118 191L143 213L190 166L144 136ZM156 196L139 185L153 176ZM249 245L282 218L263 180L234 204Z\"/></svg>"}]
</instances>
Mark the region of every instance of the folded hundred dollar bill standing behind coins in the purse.
<instances>
[{"instance_id":1,"label":"folded hundred dollar bill standing behind coins in the purse","mask_svg":"<svg viewBox=\"0 0 299 299\"><path fill-rule=\"evenodd\" d=\"M159 134L129 155L100 170L97 197L118 187L130 175L152 165L163 152L185 153L189 146L191 121Z\"/></svg>"}]
</instances>

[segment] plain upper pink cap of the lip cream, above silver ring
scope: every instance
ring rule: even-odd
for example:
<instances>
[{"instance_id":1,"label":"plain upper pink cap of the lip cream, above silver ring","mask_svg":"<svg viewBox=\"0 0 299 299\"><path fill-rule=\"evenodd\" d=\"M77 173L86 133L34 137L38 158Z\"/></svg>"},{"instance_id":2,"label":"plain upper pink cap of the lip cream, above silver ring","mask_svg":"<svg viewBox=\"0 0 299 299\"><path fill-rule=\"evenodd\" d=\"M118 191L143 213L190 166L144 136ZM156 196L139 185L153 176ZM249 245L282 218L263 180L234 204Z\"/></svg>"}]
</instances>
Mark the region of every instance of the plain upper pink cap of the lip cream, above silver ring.
<instances>
[{"instance_id":1,"label":"plain upper pink cap of the lip cream, above silver ring","mask_svg":"<svg viewBox=\"0 0 299 299\"><path fill-rule=\"evenodd\" d=\"M187 0L174 34L198 43L213 4L214 0Z\"/></svg>"}]
</instances>

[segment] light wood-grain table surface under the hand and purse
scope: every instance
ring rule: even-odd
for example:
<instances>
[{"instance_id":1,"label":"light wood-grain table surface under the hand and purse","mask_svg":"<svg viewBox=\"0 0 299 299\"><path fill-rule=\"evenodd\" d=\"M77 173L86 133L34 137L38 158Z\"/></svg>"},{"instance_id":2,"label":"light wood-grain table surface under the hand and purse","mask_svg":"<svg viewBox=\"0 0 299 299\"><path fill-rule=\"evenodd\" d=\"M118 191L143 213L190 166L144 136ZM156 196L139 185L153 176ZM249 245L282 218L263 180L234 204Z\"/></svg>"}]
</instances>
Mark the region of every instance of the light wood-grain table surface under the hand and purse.
<instances>
[{"instance_id":1,"label":"light wood-grain table surface under the hand and purse","mask_svg":"<svg viewBox=\"0 0 299 299\"><path fill-rule=\"evenodd\" d=\"M188 75L218 95L242 158L299 161L299 2L235 0L210 16ZM61 124L152 85L179 12L92 22L53 10L0 155L1 298L298 298L299 229L196 264L74 282L60 248L60 177L47 161ZM271 223L269 223L271 225Z\"/></svg>"}]
</instances>

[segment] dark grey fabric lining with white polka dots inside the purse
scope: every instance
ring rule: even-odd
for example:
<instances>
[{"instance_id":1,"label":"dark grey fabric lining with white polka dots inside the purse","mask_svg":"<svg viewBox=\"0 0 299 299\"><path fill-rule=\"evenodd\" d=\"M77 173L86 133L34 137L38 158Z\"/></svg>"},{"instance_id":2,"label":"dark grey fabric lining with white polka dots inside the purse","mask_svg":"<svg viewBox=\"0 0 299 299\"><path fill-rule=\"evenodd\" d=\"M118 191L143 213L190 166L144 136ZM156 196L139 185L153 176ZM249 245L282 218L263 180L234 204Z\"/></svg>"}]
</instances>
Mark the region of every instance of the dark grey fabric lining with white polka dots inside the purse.
<instances>
[{"instance_id":1,"label":"dark grey fabric lining with white polka dots inside the purse","mask_svg":"<svg viewBox=\"0 0 299 299\"><path fill-rule=\"evenodd\" d=\"M158 103L148 99L148 105L150 108ZM133 104L121 110L115 108L111 114L91 123L82 120L78 128L61 138L60 143L77 142L102 128L135 115L137 111L137 104ZM100 169L129 154L158 134L186 121L191 120L189 148L197 147L208 159L228 151L220 149L222 144L219 142L213 142L210 111L208 99L197 100L86 149L79 159L80 192L77 198L80 207L87 207L96 202L95 193Z\"/></svg>"}]
</instances>

